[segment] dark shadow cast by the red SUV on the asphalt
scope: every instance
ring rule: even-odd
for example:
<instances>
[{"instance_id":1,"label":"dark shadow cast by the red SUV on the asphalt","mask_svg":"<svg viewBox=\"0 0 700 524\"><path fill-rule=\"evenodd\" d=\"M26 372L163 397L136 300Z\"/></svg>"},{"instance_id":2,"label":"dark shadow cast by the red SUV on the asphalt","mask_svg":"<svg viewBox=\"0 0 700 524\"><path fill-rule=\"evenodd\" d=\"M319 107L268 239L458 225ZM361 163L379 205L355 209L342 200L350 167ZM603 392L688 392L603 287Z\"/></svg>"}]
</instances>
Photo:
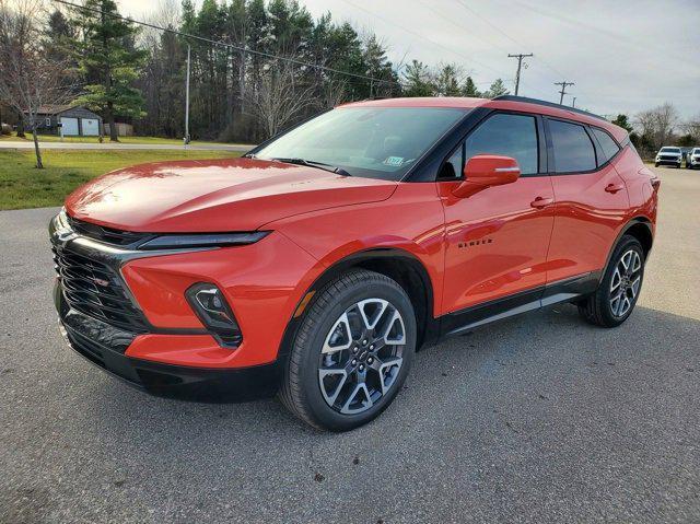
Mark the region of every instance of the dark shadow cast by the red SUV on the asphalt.
<instances>
[{"instance_id":1,"label":"dark shadow cast by the red SUV on the asphalt","mask_svg":"<svg viewBox=\"0 0 700 524\"><path fill-rule=\"evenodd\" d=\"M371 426L383 427L388 418L410 419L411 411L422 404L429 404L433 412L441 408L468 410L475 407L469 391L482 385L491 385L494 395L499 388L503 393L517 392L532 382L517 370L535 372L542 391L560 386L563 370L572 383L585 382L594 372L600 375L598 380L614 380L630 366L658 369L663 360L666 368L673 357L679 360L677 369L669 371L692 373L697 369L700 374L700 354L682 345L684 335L697 334L699 328L700 322L691 318L638 308L623 326L604 329L585 324L569 304L492 324L421 350L405 392ZM685 340L692 345L691 337ZM684 361L693 357L695 362ZM539 369L541 364L544 369ZM611 374L616 365L618 370ZM122 427L124 416L137 420L148 417L158 423L158 434L165 438L175 431L180 433L189 424L194 431L202 426L215 428L214 433L220 432L222 440L249 433L284 433L290 427L310 436L319 434L296 422L276 399L241 404L182 401L150 396L104 377L95 381L90 398L83 401L100 406L98 427L117 430ZM176 428L168 423L173 417ZM226 423L221 424L222 420Z\"/></svg>"}]
</instances>

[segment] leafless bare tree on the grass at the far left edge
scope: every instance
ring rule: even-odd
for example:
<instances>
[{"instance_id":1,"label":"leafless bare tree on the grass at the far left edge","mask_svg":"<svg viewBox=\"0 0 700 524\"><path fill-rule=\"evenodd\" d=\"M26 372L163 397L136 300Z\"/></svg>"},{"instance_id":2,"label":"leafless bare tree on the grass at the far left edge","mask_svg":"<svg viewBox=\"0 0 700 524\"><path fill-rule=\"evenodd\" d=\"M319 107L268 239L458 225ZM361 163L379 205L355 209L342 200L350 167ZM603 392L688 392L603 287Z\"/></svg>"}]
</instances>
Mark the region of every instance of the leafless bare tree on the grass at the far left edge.
<instances>
[{"instance_id":1,"label":"leafless bare tree on the grass at the far left edge","mask_svg":"<svg viewBox=\"0 0 700 524\"><path fill-rule=\"evenodd\" d=\"M0 101L24 115L34 137L36 167L44 167L37 137L39 109L66 104L73 85L69 63L49 57L42 46L40 0L0 0Z\"/></svg>"}]
</instances>

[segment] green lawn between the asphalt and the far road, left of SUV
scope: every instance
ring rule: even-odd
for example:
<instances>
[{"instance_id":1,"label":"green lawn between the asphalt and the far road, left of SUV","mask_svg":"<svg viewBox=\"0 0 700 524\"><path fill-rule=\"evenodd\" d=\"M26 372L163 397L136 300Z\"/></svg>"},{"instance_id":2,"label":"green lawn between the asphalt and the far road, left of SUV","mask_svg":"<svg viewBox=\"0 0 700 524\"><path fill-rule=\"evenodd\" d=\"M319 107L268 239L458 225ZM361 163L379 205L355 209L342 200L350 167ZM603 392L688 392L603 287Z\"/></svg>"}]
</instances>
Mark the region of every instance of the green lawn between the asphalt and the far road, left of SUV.
<instances>
[{"instance_id":1,"label":"green lawn between the asphalt and the far road, left of SUV","mask_svg":"<svg viewBox=\"0 0 700 524\"><path fill-rule=\"evenodd\" d=\"M0 210L61 206L81 184L119 167L164 160L223 159L226 151L65 151L45 150L44 170L33 150L0 150Z\"/></svg>"}]
</instances>

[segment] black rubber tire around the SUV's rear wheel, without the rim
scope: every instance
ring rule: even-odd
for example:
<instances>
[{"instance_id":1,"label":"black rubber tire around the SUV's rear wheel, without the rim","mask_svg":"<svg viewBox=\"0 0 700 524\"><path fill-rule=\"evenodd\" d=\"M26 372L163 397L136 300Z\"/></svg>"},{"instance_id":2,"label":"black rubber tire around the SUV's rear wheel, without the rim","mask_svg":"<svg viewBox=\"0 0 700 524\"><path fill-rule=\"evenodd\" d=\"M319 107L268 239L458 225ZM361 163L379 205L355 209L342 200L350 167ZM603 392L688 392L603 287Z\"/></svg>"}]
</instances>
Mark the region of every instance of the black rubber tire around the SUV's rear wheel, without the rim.
<instances>
[{"instance_id":1,"label":"black rubber tire around the SUV's rear wheel, without the rim","mask_svg":"<svg viewBox=\"0 0 700 524\"><path fill-rule=\"evenodd\" d=\"M639 286L637 287L634 296L630 300L629 308L625 314L616 315L612 311L612 304L610 303L612 295L610 287L612 286L615 270L618 264L620 264L620 259L630 251L633 251L639 255L639 260L641 263L641 267L639 269ZM610 261L605 269L605 273L603 276L603 280L600 280L598 289L593 294L579 302L579 313L581 313L581 316L583 316L583 318L588 323L602 327L616 327L627 321L632 314L632 311L634 311L634 305L637 304L637 300L639 299L639 294L642 290L642 283L644 281L644 249L640 242L631 235L623 235L612 251Z\"/></svg>"}]
</instances>

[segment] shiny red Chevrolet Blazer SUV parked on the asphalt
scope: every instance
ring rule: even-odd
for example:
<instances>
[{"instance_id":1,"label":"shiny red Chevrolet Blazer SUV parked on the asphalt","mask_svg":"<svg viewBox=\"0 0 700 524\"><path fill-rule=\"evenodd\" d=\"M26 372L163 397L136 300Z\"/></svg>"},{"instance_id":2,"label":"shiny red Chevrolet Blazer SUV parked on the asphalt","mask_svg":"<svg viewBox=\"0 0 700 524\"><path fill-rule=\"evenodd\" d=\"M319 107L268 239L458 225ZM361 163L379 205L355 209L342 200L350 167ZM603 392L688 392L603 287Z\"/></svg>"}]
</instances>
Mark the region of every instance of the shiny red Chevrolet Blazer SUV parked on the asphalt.
<instances>
[{"instance_id":1,"label":"shiny red Chevrolet Blazer SUV parked on the asphalt","mask_svg":"<svg viewBox=\"0 0 700 524\"><path fill-rule=\"evenodd\" d=\"M152 393L279 393L348 430L440 337L557 302L632 312L658 179L627 132L529 98L348 104L242 159L153 163L50 224L71 347Z\"/></svg>"}]
</instances>

